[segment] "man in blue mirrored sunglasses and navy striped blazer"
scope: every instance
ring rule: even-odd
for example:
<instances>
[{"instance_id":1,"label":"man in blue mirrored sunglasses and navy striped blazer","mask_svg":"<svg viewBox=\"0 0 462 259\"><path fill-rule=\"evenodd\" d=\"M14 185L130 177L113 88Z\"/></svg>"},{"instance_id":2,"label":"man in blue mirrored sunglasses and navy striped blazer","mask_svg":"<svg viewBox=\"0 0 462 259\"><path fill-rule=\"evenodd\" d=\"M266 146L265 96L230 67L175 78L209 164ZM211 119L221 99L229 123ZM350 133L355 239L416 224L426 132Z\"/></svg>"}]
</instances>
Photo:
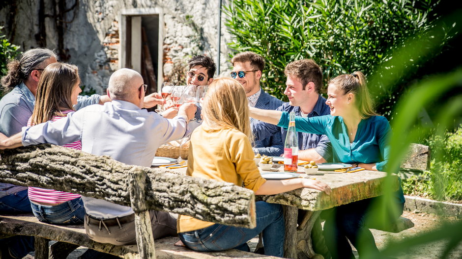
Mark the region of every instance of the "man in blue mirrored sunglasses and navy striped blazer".
<instances>
[{"instance_id":1,"label":"man in blue mirrored sunglasses and navy striped blazer","mask_svg":"<svg viewBox=\"0 0 462 259\"><path fill-rule=\"evenodd\" d=\"M233 66L231 77L239 81L244 87L250 106L275 110L283 104L281 100L270 96L260 87L260 78L265 65L262 56L254 52L241 52L232 57L231 63ZM250 122L253 125L259 121L251 118ZM276 132L264 139L257 139L254 152L261 155L281 155L284 152L281 132Z\"/></svg>"}]
</instances>

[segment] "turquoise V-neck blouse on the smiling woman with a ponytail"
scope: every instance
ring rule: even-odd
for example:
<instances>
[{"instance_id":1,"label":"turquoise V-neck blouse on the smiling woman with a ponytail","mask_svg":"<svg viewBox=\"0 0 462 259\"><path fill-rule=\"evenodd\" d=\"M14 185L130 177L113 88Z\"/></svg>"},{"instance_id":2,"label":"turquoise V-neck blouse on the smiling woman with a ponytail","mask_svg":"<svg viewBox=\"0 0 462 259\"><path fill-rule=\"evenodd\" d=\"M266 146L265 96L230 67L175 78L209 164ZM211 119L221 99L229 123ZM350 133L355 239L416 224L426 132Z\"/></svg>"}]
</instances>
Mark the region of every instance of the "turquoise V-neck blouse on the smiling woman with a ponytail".
<instances>
[{"instance_id":1,"label":"turquoise V-neck blouse on the smiling woman with a ponytail","mask_svg":"<svg viewBox=\"0 0 462 259\"><path fill-rule=\"evenodd\" d=\"M288 128L288 112L283 112L278 126ZM334 151L334 162L375 163L378 171L383 171L388 162L390 148L387 145L387 136L390 133L390 124L383 116L371 116L361 120L351 144L346 125L340 116L324 115L311 118L296 116L295 129L327 135ZM401 184L397 194L400 201L404 203Z\"/></svg>"}]
</instances>

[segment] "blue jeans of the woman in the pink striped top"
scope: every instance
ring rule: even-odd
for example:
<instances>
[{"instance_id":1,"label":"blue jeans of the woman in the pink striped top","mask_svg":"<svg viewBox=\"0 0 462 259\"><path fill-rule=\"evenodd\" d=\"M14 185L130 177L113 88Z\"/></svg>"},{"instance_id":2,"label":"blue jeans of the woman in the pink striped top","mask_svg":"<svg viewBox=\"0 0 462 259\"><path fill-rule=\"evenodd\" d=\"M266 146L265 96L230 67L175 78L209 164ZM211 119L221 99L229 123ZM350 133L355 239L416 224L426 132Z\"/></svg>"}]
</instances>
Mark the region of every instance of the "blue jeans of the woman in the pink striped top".
<instances>
[{"instance_id":1,"label":"blue jeans of the woman in the pink striped top","mask_svg":"<svg viewBox=\"0 0 462 259\"><path fill-rule=\"evenodd\" d=\"M85 208L82 198L76 198L59 205L45 206L30 203L32 213L38 220L56 225L84 224Z\"/></svg>"}]
</instances>

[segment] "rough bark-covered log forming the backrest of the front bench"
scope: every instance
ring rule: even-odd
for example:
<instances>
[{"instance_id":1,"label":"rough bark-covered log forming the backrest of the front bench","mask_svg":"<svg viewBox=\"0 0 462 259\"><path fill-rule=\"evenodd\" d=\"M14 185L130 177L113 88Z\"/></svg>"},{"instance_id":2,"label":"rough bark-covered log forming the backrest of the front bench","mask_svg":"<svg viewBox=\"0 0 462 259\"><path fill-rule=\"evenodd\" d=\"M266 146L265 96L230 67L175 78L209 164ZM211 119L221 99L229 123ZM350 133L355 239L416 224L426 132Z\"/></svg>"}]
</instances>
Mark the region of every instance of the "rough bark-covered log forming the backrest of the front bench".
<instances>
[{"instance_id":1,"label":"rough bark-covered log forming the backrest of the front bench","mask_svg":"<svg viewBox=\"0 0 462 259\"><path fill-rule=\"evenodd\" d=\"M78 193L124 206L131 206L128 172L138 167L148 176L147 209L237 227L256 226L254 192L229 182L126 165L109 156L50 144L3 150L0 157L2 182Z\"/></svg>"}]
</instances>

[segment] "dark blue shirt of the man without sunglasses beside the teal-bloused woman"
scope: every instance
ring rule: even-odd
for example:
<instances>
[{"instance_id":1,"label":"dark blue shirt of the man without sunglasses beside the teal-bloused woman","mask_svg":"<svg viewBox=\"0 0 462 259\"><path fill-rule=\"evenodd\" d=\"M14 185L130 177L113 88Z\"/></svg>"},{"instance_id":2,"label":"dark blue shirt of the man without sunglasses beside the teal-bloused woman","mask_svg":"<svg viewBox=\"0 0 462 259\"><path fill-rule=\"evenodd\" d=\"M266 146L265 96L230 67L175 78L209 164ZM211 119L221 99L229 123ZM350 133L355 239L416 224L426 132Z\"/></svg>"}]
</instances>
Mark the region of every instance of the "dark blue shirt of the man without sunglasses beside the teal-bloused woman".
<instances>
[{"instance_id":1,"label":"dark blue shirt of the man without sunglasses beside the teal-bloused woman","mask_svg":"<svg viewBox=\"0 0 462 259\"><path fill-rule=\"evenodd\" d=\"M325 104L325 102L326 99L319 95L318 101L316 102L313 111L308 114L308 118L330 114L329 106ZM301 116L300 107L292 106L289 103L282 104L276 110L287 112L293 111L295 112L296 116ZM285 140L287 136L287 129L265 122L259 122L252 125L252 132L256 138L265 138L266 136L270 136L276 132L281 132L283 140ZM333 160L332 147L326 135L312 134L307 132L297 132L297 134L299 150L314 148L316 152L326 161L330 162ZM283 152L281 152L279 155L282 153Z\"/></svg>"}]
</instances>

